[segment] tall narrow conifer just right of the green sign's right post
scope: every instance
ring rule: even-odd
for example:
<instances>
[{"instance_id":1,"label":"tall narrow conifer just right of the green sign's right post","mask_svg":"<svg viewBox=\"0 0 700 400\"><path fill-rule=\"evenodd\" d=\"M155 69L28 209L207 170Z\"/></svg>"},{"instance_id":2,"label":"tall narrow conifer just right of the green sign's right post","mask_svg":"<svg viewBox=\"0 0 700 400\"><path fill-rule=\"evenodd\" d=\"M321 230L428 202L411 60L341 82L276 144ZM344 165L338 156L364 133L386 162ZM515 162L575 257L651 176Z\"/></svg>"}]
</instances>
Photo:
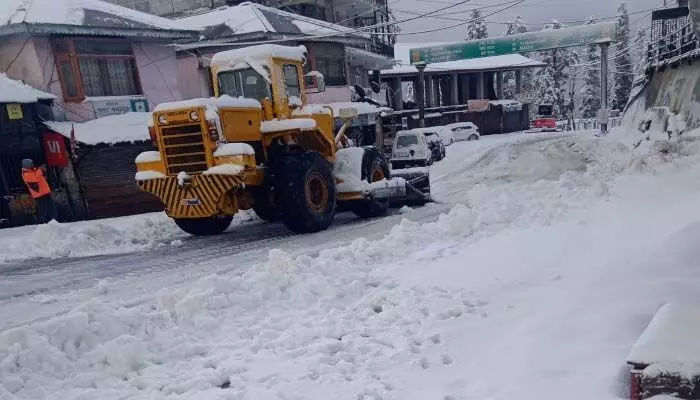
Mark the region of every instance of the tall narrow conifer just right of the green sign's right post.
<instances>
[{"instance_id":1,"label":"tall narrow conifer just right of the green sign's right post","mask_svg":"<svg viewBox=\"0 0 700 400\"><path fill-rule=\"evenodd\" d=\"M612 108L622 110L627 105L632 91L633 73L630 55L630 17L627 13L627 1L621 0L617 7L617 44L615 45L615 64L613 73Z\"/></svg>"}]
</instances>

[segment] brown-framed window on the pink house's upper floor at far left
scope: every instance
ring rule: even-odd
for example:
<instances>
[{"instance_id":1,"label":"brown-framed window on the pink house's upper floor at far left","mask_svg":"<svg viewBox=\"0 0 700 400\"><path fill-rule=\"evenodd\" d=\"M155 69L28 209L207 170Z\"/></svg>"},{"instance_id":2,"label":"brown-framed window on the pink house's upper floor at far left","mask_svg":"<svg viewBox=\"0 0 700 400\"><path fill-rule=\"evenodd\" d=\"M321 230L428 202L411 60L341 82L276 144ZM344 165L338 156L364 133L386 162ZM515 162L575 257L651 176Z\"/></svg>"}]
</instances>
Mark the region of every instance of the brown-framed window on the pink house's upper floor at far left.
<instances>
[{"instance_id":1,"label":"brown-framed window on the pink house's upper floor at far left","mask_svg":"<svg viewBox=\"0 0 700 400\"><path fill-rule=\"evenodd\" d=\"M54 39L52 47L66 101L142 94L130 42Z\"/></svg>"}]
</instances>

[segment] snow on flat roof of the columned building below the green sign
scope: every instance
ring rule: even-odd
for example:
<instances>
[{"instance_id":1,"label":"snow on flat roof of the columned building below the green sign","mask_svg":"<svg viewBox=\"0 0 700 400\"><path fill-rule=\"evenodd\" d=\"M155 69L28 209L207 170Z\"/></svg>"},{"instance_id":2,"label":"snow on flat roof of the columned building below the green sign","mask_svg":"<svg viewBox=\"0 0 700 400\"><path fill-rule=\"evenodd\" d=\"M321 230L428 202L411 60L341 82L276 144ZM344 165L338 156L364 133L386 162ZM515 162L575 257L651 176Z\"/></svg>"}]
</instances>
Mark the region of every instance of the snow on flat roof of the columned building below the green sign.
<instances>
[{"instance_id":1,"label":"snow on flat roof of the columned building below the green sign","mask_svg":"<svg viewBox=\"0 0 700 400\"><path fill-rule=\"evenodd\" d=\"M472 58L468 60L447 61L442 63L428 64L425 72L447 72L447 71L483 71L508 68L528 68L542 67L543 63L521 56L520 54L507 54L503 56L493 56L484 58ZM415 74L418 70L413 65L397 65L391 69L381 71L382 75L402 75Z\"/></svg>"}]
</instances>

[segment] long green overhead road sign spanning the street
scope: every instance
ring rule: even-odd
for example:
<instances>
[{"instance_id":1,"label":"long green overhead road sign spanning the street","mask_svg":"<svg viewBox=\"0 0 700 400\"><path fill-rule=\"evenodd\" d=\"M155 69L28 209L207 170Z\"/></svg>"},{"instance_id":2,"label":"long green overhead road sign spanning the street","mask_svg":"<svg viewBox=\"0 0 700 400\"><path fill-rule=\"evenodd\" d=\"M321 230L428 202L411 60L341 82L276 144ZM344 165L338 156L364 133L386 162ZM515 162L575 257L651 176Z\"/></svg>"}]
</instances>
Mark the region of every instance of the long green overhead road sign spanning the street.
<instances>
[{"instance_id":1,"label":"long green overhead road sign spanning the street","mask_svg":"<svg viewBox=\"0 0 700 400\"><path fill-rule=\"evenodd\" d=\"M582 46L617 40L617 24L601 22L573 28L528 32L520 35L472 40L445 46L411 49L411 63L436 63L500 56L513 53Z\"/></svg>"}]
</instances>

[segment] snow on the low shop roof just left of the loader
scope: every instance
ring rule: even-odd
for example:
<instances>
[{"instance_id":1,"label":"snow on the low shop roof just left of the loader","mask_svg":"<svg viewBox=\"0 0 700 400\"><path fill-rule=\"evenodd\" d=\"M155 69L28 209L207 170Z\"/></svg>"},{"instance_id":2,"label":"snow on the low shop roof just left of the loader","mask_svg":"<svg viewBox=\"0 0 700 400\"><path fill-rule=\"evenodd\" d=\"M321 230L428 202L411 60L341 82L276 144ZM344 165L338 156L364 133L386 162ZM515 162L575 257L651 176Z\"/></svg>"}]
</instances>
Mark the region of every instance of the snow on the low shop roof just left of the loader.
<instances>
[{"instance_id":1,"label":"snow on the low shop roof just left of the loader","mask_svg":"<svg viewBox=\"0 0 700 400\"><path fill-rule=\"evenodd\" d=\"M150 140L148 123L152 118L151 113L133 112L81 123L46 121L44 124L65 137L70 137L71 127L74 126L77 141L95 145Z\"/></svg>"}]
</instances>

